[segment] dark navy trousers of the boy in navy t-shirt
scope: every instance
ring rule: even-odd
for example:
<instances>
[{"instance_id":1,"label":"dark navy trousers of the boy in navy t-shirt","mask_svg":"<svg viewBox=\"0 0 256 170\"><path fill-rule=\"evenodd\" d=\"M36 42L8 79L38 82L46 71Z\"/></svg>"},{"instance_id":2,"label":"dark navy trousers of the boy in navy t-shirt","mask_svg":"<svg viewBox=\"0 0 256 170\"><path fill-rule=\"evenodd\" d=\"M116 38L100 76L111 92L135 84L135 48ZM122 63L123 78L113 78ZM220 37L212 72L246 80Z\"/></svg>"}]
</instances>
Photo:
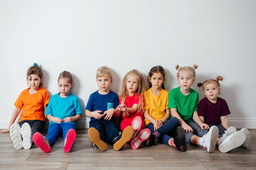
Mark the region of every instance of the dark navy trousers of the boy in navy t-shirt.
<instances>
[{"instance_id":1,"label":"dark navy trousers of the boy in navy t-shirt","mask_svg":"<svg viewBox=\"0 0 256 170\"><path fill-rule=\"evenodd\" d=\"M115 143L113 140L118 137L119 132L113 121L93 120L90 121L89 125L90 128L95 128L99 131L99 136L101 137L101 140L103 140L104 142L108 142L111 145Z\"/></svg>"}]
</instances>

